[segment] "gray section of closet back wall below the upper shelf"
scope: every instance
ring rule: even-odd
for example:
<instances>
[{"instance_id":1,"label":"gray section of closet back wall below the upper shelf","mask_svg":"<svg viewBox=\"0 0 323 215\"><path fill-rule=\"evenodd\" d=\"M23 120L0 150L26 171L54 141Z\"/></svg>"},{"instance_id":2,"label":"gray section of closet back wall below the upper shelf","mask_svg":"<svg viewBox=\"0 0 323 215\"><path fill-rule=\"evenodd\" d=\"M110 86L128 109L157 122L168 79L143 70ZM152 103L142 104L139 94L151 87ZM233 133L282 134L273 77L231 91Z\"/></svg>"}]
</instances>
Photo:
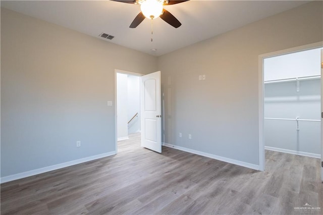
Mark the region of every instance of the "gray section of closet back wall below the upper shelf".
<instances>
[{"instance_id":1,"label":"gray section of closet back wall below the upper shelf","mask_svg":"<svg viewBox=\"0 0 323 215\"><path fill-rule=\"evenodd\" d=\"M264 117L320 119L320 80L268 83L264 87ZM265 146L320 154L320 122L264 120Z\"/></svg>"}]
</instances>

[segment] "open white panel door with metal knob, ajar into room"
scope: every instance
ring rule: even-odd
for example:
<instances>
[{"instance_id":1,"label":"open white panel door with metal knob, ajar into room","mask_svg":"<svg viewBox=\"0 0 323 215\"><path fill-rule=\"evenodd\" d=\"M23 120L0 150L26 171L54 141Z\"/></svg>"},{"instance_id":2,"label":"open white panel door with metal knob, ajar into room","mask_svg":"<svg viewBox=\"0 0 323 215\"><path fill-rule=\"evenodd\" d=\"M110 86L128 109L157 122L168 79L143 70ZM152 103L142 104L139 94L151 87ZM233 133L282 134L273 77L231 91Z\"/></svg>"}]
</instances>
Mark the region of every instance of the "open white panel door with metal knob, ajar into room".
<instances>
[{"instance_id":1,"label":"open white panel door with metal knob, ajar into room","mask_svg":"<svg viewBox=\"0 0 323 215\"><path fill-rule=\"evenodd\" d=\"M141 146L161 152L160 71L141 76Z\"/></svg>"}]
</instances>

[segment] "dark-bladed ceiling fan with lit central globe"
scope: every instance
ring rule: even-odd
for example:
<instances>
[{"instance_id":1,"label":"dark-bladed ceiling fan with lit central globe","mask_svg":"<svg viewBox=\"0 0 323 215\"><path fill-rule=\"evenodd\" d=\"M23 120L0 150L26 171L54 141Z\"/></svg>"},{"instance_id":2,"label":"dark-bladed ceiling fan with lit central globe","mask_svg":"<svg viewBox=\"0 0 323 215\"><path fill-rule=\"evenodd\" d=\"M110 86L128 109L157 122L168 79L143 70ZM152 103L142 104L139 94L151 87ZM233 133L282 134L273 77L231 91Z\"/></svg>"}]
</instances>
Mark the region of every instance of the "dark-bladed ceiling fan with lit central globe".
<instances>
[{"instance_id":1,"label":"dark-bladed ceiling fan with lit central globe","mask_svg":"<svg viewBox=\"0 0 323 215\"><path fill-rule=\"evenodd\" d=\"M165 22L173 26L174 28L180 27L182 24L176 17L174 17L170 12L163 8L163 6L167 5L175 5L182 2L187 2L189 0L184 1L172 1L172 0L111 0L114 2L128 3L140 5L141 12L136 16L136 18L132 21L129 28L136 28L145 18L148 19L156 19L160 17Z\"/></svg>"}]
</instances>

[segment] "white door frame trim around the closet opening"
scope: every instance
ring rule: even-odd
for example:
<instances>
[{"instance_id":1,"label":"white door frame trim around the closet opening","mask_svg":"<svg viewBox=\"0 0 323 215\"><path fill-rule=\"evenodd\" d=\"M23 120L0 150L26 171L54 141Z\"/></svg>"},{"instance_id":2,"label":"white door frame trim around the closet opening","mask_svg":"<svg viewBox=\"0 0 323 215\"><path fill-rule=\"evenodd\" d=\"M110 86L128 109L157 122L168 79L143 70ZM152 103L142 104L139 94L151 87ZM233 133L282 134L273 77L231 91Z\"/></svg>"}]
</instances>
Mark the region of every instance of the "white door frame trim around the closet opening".
<instances>
[{"instance_id":1,"label":"white door frame trim around the closet opening","mask_svg":"<svg viewBox=\"0 0 323 215\"><path fill-rule=\"evenodd\" d=\"M263 61L266 58L286 55L288 53L294 53L299 51L310 50L314 48L323 47L323 41L315 42L307 45L301 45L293 48L283 49L270 53L264 53L258 56L258 115L259 115L259 170L264 171L265 169L265 151L264 151L264 83L263 83ZM322 141L322 140L321 140ZM321 143L322 144L322 143ZM321 156L323 156L321 154Z\"/></svg>"}]
</instances>

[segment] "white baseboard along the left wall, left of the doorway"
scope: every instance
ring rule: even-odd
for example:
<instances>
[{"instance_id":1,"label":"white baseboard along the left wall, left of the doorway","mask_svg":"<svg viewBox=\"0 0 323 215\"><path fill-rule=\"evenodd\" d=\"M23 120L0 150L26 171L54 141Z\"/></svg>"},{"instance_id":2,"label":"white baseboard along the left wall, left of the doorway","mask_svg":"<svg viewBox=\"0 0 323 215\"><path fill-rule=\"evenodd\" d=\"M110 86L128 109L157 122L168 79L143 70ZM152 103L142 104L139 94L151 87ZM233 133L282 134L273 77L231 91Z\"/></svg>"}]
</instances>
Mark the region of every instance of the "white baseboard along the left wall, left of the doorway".
<instances>
[{"instance_id":1,"label":"white baseboard along the left wall, left of the doorway","mask_svg":"<svg viewBox=\"0 0 323 215\"><path fill-rule=\"evenodd\" d=\"M66 163L62 163L62 164L52 165L52 166L49 166L49 167L43 167L43 168L39 168L39 169L36 169L36 170L30 170L30 171L23 172L23 173L18 173L18 174L15 174L15 175L5 176L5 177L2 177L0 179L0 183L14 181L14 180L26 178L26 177L29 177L29 176L34 176L34 175L38 175L38 174L41 174L41 173L46 173L46 172L49 172L49 171L58 170L58 169L61 169L61 168L73 166L73 165L76 165L76 164L81 164L81 163L84 163L84 162L88 162L90 160L95 160L95 159L99 159L99 158L102 158L102 157L111 156L111 155L114 155L114 154L116 154L116 151L110 151L110 152L106 152L106 153L103 153L103 154L97 154L97 155L94 155L94 156L89 156L89 157L84 157L84 158L80 158L80 159L76 159L76 160L71 160L70 162L66 162Z\"/></svg>"}]
</instances>

